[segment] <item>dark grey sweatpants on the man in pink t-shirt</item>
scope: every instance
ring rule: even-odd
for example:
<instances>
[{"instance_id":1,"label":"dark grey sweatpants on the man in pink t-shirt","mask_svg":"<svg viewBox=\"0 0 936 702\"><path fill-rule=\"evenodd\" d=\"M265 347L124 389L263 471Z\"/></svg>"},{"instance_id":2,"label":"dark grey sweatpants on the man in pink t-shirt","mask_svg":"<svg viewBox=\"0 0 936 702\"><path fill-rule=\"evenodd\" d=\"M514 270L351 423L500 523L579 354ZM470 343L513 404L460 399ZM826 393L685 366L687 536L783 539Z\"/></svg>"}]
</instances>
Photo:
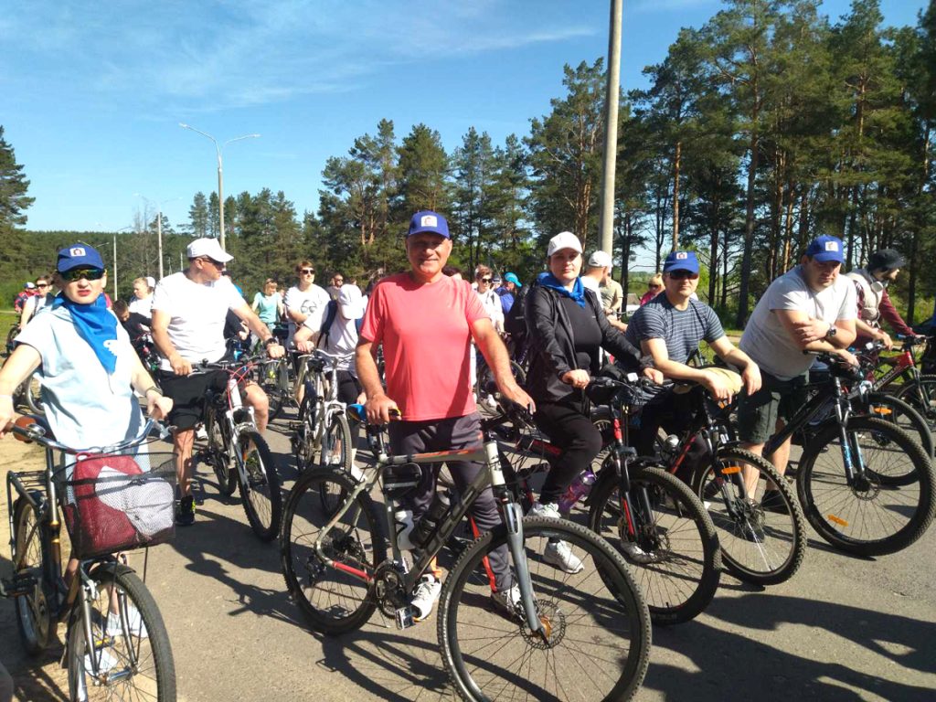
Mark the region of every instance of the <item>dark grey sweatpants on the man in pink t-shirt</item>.
<instances>
[{"instance_id":1,"label":"dark grey sweatpants on the man in pink t-shirt","mask_svg":"<svg viewBox=\"0 0 936 702\"><path fill-rule=\"evenodd\" d=\"M429 419L427 421L399 421L389 425L390 450L394 455L425 453L427 451L450 451L461 448L478 448L482 444L481 417L475 412L464 417L447 419ZM484 465L474 461L451 461L446 463L448 472L455 481L455 487L464 490L475 480ZM432 496L435 494L435 479L439 475L441 463L423 466L422 478L416 490L407 495L402 503L413 510L413 523L429 510ZM426 470L431 468L431 470ZM481 492L475 504L471 506L471 516L479 532L489 532L501 522L501 515L494 501L490 487ZM488 555L490 569L494 574L494 584L498 591L507 590L513 583L510 574L507 547L493 550Z\"/></svg>"}]
</instances>

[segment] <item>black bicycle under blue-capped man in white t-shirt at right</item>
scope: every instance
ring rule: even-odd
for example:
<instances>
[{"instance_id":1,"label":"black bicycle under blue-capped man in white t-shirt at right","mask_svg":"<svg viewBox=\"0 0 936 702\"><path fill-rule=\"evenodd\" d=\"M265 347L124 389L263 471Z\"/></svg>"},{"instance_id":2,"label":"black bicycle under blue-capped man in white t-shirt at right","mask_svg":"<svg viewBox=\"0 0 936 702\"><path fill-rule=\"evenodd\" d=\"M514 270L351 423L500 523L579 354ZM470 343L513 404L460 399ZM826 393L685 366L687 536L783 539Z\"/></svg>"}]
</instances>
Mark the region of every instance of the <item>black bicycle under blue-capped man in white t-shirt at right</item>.
<instances>
[{"instance_id":1,"label":"black bicycle under blue-capped man in white t-shirt at right","mask_svg":"<svg viewBox=\"0 0 936 702\"><path fill-rule=\"evenodd\" d=\"M768 440L764 455L809 428L811 438L797 468L797 494L812 528L832 546L860 556L907 548L926 532L936 511L932 463L893 423L853 415L856 396L871 388L860 370L841 366L832 354L812 355L829 367L825 391L815 392ZM819 423L810 427L815 419Z\"/></svg>"}]
</instances>

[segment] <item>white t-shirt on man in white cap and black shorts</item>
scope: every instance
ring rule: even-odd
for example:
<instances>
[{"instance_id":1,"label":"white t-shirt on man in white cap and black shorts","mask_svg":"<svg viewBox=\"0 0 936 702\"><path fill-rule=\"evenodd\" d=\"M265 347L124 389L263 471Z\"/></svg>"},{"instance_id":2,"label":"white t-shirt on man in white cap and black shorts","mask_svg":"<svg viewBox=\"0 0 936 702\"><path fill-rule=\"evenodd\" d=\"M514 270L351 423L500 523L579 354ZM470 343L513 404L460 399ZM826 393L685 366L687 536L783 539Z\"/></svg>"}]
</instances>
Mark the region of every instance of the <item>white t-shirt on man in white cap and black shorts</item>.
<instances>
[{"instance_id":1,"label":"white t-shirt on man in white cap and black shorts","mask_svg":"<svg viewBox=\"0 0 936 702\"><path fill-rule=\"evenodd\" d=\"M169 315L169 341L192 363L213 363L225 355L227 311L246 306L225 276L212 283L193 283L184 272L172 273L159 281L153 294L154 311ZM159 367L172 370L168 358L163 358Z\"/></svg>"}]
</instances>

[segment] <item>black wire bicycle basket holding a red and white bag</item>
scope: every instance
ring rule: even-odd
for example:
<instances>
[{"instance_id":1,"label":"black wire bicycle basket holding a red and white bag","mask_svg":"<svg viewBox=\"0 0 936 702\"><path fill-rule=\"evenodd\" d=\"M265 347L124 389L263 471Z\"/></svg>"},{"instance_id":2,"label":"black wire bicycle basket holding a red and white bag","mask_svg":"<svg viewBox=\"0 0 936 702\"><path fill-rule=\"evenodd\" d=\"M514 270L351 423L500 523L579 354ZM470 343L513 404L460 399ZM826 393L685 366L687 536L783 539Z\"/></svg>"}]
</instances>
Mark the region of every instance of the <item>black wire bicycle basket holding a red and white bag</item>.
<instances>
[{"instance_id":1,"label":"black wire bicycle basket holding a red and white bag","mask_svg":"<svg viewBox=\"0 0 936 702\"><path fill-rule=\"evenodd\" d=\"M161 544L175 535L172 454L79 455L59 471L63 513L77 558ZM149 470L151 465L158 467Z\"/></svg>"}]
</instances>

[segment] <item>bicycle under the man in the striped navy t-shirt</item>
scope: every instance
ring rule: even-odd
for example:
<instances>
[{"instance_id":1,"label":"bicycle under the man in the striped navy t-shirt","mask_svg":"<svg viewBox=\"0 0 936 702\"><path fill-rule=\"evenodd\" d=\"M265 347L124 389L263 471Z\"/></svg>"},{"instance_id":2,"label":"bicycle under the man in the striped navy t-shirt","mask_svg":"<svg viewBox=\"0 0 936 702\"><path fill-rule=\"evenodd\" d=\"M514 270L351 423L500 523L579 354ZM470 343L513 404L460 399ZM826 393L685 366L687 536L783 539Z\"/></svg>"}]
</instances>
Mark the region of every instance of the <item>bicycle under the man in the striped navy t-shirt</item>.
<instances>
[{"instance_id":1,"label":"bicycle under the man in the striped navy t-shirt","mask_svg":"<svg viewBox=\"0 0 936 702\"><path fill-rule=\"evenodd\" d=\"M706 388L691 382L676 384L674 391L684 393L681 402L692 407L693 421L680 435L659 442L659 455L670 474L686 474L709 511L725 569L761 586L793 578L806 556L807 534L789 482L769 461L738 446L733 404L712 400ZM690 465L694 451L700 459ZM776 490L770 497L779 509L765 508L768 490Z\"/></svg>"}]
</instances>

